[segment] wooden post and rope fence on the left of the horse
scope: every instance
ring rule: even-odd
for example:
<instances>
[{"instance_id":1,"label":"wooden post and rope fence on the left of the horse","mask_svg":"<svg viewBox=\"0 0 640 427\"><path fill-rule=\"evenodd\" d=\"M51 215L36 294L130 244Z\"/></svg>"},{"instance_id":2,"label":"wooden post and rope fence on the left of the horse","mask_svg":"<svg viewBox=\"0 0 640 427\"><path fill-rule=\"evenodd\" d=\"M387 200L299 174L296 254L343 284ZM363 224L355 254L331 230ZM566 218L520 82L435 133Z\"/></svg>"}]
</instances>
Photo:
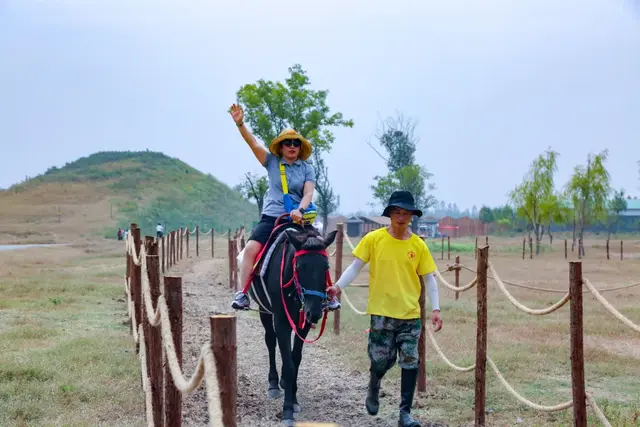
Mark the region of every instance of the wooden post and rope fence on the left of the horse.
<instances>
[{"instance_id":1,"label":"wooden post and rope fence on the left of the horse","mask_svg":"<svg viewBox=\"0 0 640 427\"><path fill-rule=\"evenodd\" d=\"M210 425L235 427L237 396L235 315L210 317L211 342L202 346L193 376L185 379L181 366L181 278L165 276L165 287L170 282L177 282L179 285L177 286L179 292L169 295L170 292L165 290L167 294L165 297L165 293L162 293L159 286L158 257L153 254L157 253L157 242L154 238L147 237L143 246L137 225L131 224L130 230L132 233L125 241L127 257L125 293L132 335L141 362L147 425L149 427L180 425L182 417L180 394L193 392L204 381ZM195 231L197 234L198 227ZM167 235L171 242L167 253L169 260L177 258L178 246L175 244L177 235L176 231ZM157 289L158 295L155 295L157 299L154 298L152 289ZM167 298L172 301L168 303ZM155 303L154 299L156 299ZM154 333L159 336L159 341L151 339ZM156 351L150 351L154 347ZM159 366L162 366L163 355L167 363L166 375L163 375L161 369L151 368L158 365L158 360ZM218 369L218 366L221 366L221 369ZM171 393L172 388L179 393ZM162 399L163 389L166 399Z\"/></svg>"}]
</instances>

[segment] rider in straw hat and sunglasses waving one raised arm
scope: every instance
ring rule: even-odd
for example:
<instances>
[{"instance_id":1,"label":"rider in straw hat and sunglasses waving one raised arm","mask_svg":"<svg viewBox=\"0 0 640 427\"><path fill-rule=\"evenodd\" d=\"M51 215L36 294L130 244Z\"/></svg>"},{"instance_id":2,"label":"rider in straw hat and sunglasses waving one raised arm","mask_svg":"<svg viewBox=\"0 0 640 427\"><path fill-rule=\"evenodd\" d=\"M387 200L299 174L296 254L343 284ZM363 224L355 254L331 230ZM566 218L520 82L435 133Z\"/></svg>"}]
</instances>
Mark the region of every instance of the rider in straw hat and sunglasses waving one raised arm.
<instances>
[{"instance_id":1,"label":"rider in straw hat and sunglasses waving one raised arm","mask_svg":"<svg viewBox=\"0 0 640 427\"><path fill-rule=\"evenodd\" d=\"M316 219L315 206L311 202L316 174L313 166L306 162L311 155L311 143L298 132L284 129L271 141L267 151L244 124L242 107L233 104L229 112L253 155L267 170L269 182L260 221L249 237L240 266L240 283L244 285L244 289L236 293L231 304L231 307L239 310L249 308L249 277L256 257L275 228L276 219L288 213L293 221L309 226ZM335 297L330 298L326 307L337 310L340 303Z\"/></svg>"}]
</instances>

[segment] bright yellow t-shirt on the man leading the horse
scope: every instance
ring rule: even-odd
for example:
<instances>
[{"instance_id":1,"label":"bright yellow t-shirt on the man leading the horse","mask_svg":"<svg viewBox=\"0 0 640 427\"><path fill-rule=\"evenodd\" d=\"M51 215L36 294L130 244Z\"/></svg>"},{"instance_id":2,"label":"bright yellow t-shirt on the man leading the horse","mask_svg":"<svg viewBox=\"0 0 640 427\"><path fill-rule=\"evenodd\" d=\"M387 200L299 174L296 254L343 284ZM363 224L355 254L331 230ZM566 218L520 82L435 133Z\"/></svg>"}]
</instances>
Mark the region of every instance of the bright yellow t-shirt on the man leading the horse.
<instances>
[{"instance_id":1,"label":"bright yellow t-shirt on the man leading the horse","mask_svg":"<svg viewBox=\"0 0 640 427\"><path fill-rule=\"evenodd\" d=\"M353 256L369 263L367 314L395 319L420 318L420 278L436 264L426 243L412 234L398 240L386 228L368 233Z\"/></svg>"}]
</instances>

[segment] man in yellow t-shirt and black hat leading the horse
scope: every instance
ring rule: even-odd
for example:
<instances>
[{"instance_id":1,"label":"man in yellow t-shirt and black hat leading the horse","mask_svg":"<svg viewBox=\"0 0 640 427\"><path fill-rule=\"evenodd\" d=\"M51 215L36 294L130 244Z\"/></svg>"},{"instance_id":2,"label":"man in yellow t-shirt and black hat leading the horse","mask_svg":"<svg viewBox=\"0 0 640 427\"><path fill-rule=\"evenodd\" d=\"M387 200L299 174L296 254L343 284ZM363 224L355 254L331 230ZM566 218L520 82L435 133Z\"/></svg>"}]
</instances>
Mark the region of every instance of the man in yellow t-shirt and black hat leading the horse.
<instances>
[{"instance_id":1,"label":"man in yellow t-shirt and black hat leading the horse","mask_svg":"<svg viewBox=\"0 0 640 427\"><path fill-rule=\"evenodd\" d=\"M435 330L442 328L438 285L433 273L436 264L425 242L411 232L413 215L422 216L408 191L395 191L382 213L391 225L368 233L353 251L355 261L329 288L331 295L351 283L362 267L369 263L369 300L367 314L371 315L368 353L369 390L365 400L367 411L376 415L380 408L379 394L382 377L396 363L402 369L400 389L400 427L420 427L411 416L411 406L418 378L418 339L420 322L420 277L428 284L431 316Z\"/></svg>"}]
</instances>

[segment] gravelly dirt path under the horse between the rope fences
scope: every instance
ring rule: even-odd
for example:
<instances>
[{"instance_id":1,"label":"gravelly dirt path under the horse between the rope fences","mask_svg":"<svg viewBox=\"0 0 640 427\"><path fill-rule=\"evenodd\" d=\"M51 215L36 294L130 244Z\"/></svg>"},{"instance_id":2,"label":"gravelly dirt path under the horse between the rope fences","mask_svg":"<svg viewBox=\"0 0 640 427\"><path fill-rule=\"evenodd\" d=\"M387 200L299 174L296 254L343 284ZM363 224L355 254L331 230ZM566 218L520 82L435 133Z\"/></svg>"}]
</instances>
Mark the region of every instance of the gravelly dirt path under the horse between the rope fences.
<instances>
[{"instance_id":1,"label":"gravelly dirt path under the horse between the rope fences","mask_svg":"<svg viewBox=\"0 0 640 427\"><path fill-rule=\"evenodd\" d=\"M183 264L184 263L184 264ZM191 375L200 354L200 347L209 339L208 316L215 312L229 312L232 293L226 286L226 260L181 262L185 299L183 354L184 371ZM281 426L282 398L267 399L268 355L264 333L255 312L238 313L238 426ZM325 363L331 360L331 368ZM280 358L278 355L278 371ZM330 354L322 340L305 345L298 383L298 400L302 411L298 421L333 422L348 426L396 426L396 405L384 404L376 417L364 409L367 372L350 369ZM399 384L388 385L399 390ZM383 387L384 393L384 387ZM184 425L207 425L204 388L183 398ZM423 424L423 426L427 426Z\"/></svg>"}]
</instances>

